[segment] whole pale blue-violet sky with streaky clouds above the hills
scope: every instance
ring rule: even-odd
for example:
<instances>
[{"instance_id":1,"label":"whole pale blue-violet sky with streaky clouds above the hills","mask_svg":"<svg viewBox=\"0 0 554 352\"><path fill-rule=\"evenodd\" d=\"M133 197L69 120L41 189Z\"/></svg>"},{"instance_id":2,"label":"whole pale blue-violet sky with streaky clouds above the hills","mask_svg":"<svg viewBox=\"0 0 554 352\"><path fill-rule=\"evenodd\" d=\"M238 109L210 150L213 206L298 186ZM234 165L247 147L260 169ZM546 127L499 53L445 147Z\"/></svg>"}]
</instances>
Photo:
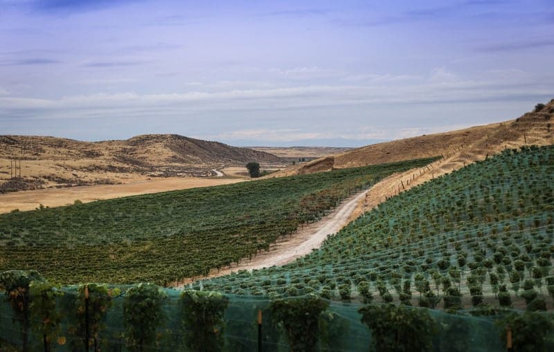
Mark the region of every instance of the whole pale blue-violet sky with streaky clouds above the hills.
<instances>
[{"instance_id":1,"label":"whole pale blue-violet sky with streaky clouds above the hills","mask_svg":"<svg viewBox=\"0 0 554 352\"><path fill-rule=\"evenodd\" d=\"M356 147L554 98L552 0L0 0L0 135Z\"/></svg>"}]
</instances>

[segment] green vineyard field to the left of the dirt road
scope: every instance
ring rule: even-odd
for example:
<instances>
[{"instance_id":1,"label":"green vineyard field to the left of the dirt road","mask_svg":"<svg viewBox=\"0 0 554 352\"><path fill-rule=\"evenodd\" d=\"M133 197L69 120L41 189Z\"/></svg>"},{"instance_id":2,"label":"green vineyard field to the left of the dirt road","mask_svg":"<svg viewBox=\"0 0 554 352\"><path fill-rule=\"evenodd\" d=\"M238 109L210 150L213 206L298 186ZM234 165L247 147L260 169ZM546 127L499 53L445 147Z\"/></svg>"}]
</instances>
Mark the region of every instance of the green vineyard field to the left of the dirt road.
<instances>
[{"instance_id":1,"label":"green vineyard field to the left of the dirt road","mask_svg":"<svg viewBox=\"0 0 554 352\"><path fill-rule=\"evenodd\" d=\"M434 160L3 214L0 271L38 270L62 284L203 275L267 250L380 178Z\"/></svg>"}]
</instances>

